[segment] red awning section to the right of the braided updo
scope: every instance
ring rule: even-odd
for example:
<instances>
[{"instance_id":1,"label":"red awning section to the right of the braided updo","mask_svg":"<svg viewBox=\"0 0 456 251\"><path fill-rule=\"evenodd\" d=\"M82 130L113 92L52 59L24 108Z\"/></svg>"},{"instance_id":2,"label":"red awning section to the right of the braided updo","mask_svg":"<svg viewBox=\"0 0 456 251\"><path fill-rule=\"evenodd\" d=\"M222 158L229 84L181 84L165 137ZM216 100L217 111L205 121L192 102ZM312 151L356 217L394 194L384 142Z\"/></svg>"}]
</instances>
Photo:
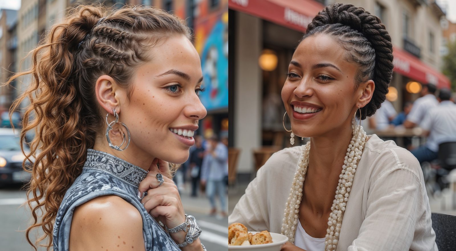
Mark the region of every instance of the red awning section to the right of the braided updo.
<instances>
[{"instance_id":1,"label":"red awning section to the right of the braided updo","mask_svg":"<svg viewBox=\"0 0 456 251\"><path fill-rule=\"evenodd\" d=\"M409 52L393 46L393 56L394 71L422 84L432 83L439 88L450 88L450 80L445 75Z\"/></svg>"}]
</instances>

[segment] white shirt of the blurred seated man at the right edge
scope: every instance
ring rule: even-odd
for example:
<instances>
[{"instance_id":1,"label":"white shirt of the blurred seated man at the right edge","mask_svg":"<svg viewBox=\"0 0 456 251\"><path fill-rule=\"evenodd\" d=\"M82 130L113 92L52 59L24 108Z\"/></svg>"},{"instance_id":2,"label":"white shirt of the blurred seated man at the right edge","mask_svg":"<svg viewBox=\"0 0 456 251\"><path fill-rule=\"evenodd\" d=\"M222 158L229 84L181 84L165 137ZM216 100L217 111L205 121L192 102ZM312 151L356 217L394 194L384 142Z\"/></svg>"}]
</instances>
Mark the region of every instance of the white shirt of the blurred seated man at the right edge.
<instances>
[{"instance_id":1,"label":"white shirt of the blurred seated man at the right edge","mask_svg":"<svg viewBox=\"0 0 456 251\"><path fill-rule=\"evenodd\" d=\"M426 146L431 151L439 151L439 145L456 141L456 104L442 101L426 114L421 127L430 131Z\"/></svg>"}]
</instances>

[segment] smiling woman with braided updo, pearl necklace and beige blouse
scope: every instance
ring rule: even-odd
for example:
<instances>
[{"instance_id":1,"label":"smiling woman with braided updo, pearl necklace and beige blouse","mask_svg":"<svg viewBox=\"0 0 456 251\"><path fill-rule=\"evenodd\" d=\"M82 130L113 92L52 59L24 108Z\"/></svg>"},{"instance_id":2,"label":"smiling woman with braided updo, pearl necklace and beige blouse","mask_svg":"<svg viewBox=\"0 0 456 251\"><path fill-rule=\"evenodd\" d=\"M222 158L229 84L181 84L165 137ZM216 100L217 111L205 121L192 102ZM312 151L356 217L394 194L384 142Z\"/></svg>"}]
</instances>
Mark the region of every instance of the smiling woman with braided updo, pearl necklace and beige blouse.
<instances>
[{"instance_id":1,"label":"smiling woman with braided updo, pearl necklace and beige blouse","mask_svg":"<svg viewBox=\"0 0 456 251\"><path fill-rule=\"evenodd\" d=\"M312 20L282 89L290 143L261 167L228 223L282 233L282 251L437 250L416 158L366 135L388 92L391 38L378 17L328 5Z\"/></svg>"}]
</instances>

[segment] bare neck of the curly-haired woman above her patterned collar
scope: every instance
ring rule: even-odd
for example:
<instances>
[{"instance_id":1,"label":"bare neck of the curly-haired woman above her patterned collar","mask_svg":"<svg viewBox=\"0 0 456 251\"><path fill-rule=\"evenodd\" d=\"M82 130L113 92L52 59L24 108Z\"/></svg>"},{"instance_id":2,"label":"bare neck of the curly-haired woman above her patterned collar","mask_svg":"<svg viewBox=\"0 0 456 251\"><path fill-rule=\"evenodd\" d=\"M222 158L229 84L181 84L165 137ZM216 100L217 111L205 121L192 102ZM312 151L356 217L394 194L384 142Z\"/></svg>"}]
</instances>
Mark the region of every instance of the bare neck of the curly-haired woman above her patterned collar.
<instances>
[{"instance_id":1,"label":"bare neck of the curly-haired woman above her patterned collar","mask_svg":"<svg viewBox=\"0 0 456 251\"><path fill-rule=\"evenodd\" d=\"M114 142L122 142L122 141L114 141ZM146 153L142 149L140 149L133 142L130 142L130 145L124 151L117 151L115 149L112 149L111 147L109 147L108 141L106 141L106 138L104 137L104 135L98 136L96 138L93 149L114 155L124 161L130 162L131 164L133 164L135 166L139 166L140 168L144 169L145 171L149 171L150 165L155 158L153 156L150 156L148 153Z\"/></svg>"}]
</instances>

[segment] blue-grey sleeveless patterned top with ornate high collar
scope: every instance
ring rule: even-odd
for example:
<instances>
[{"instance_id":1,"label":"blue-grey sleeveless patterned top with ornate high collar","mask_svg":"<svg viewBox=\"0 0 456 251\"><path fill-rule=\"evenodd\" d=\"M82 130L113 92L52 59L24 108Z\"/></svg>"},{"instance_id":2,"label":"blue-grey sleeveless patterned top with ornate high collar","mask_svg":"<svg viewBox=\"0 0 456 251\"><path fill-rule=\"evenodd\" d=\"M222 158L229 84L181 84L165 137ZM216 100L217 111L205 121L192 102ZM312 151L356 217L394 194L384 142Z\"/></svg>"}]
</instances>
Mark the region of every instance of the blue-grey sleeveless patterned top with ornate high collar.
<instances>
[{"instance_id":1,"label":"blue-grey sleeveless patterned top with ornate high collar","mask_svg":"<svg viewBox=\"0 0 456 251\"><path fill-rule=\"evenodd\" d=\"M138 198L147 171L105 152L87 150L83 171L67 190L57 211L54 251L68 251L74 209L98 196L116 195L135 206L142 216L146 251L181 251L171 236L150 216Z\"/></svg>"}]
</instances>

